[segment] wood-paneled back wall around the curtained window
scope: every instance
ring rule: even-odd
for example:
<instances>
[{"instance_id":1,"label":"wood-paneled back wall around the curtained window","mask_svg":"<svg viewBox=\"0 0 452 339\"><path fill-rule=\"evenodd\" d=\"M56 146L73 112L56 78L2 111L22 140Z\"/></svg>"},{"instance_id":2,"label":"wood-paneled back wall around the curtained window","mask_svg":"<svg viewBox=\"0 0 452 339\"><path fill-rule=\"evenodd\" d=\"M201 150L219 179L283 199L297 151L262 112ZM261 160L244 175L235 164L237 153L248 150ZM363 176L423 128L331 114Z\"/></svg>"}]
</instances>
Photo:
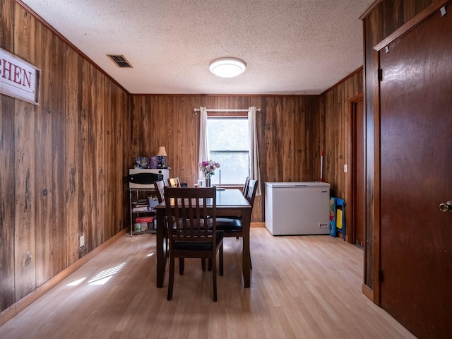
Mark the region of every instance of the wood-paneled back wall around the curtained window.
<instances>
[{"instance_id":1,"label":"wood-paneled back wall around the curtained window","mask_svg":"<svg viewBox=\"0 0 452 339\"><path fill-rule=\"evenodd\" d=\"M199 114L194 108L248 109L258 112L261 189L264 182L319 179L323 112L320 96L134 95L132 153L152 156L164 145L171 176L192 186L198 177ZM263 222L263 195L257 196L252 221Z\"/></svg>"}]
</instances>

